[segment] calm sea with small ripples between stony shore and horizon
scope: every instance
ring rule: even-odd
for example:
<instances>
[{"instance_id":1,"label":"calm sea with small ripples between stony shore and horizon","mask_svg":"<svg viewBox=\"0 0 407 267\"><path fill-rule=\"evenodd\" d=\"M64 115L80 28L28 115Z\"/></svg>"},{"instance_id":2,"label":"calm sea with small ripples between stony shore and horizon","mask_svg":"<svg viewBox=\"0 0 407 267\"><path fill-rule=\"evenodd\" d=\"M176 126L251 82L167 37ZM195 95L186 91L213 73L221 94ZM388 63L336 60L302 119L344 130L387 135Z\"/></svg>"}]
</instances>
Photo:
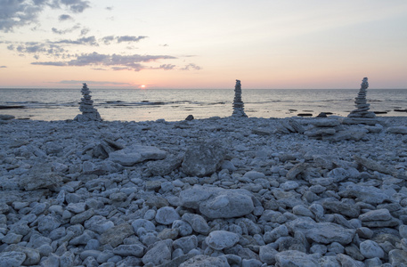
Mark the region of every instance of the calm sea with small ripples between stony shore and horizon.
<instances>
[{"instance_id":1,"label":"calm sea with small ripples between stony shore and horizon","mask_svg":"<svg viewBox=\"0 0 407 267\"><path fill-rule=\"evenodd\" d=\"M91 88L94 107L104 120L146 121L164 118L183 120L232 115L233 89L219 90L129 90ZM248 117L293 117L298 113L332 112L346 116L354 109L358 89L257 90L243 89L242 100ZM72 119L80 113L80 89L0 89L0 114L36 120ZM407 89L368 89L370 111L378 116L407 116Z\"/></svg>"}]
</instances>

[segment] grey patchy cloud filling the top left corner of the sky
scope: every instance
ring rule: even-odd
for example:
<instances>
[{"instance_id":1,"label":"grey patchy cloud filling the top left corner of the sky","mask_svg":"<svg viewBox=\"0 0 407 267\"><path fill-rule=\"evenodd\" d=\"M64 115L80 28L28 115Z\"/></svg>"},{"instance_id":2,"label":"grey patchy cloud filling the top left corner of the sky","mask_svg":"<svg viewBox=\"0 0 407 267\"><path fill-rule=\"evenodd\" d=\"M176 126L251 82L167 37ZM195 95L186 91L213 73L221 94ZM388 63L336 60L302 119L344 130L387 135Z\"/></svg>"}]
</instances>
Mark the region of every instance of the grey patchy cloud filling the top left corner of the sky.
<instances>
[{"instance_id":1,"label":"grey patchy cloud filling the top left corner of the sky","mask_svg":"<svg viewBox=\"0 0 407 267\"><path fill-rule=\"evenodd\" d=\"M63 6L76 13L90 8L89 2L83 0L0 0L0 6L0 31L4 32L37 22L39 13L46 7Z\"/></svg>"}]
</instances>

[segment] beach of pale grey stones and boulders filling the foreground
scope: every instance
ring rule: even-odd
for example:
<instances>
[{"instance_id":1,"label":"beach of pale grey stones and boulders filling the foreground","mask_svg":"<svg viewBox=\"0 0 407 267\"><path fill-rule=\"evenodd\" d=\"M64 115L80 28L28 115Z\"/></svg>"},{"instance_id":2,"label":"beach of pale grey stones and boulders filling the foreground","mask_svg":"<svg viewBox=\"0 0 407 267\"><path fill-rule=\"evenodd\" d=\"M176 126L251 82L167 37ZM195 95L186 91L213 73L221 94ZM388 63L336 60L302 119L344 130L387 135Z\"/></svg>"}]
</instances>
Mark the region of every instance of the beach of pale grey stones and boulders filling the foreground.
<instances>
[{"instance_id":1,"label":"beach of pale grey stones and boulders filling the foreground","mask_svg":"<svg viewBox=\"0 0 407 267\"><path fill-rule=\"evenodd\" d=\"M0 119L0 266L407 266L407 117Z\"/></svg>"}]
</instances>

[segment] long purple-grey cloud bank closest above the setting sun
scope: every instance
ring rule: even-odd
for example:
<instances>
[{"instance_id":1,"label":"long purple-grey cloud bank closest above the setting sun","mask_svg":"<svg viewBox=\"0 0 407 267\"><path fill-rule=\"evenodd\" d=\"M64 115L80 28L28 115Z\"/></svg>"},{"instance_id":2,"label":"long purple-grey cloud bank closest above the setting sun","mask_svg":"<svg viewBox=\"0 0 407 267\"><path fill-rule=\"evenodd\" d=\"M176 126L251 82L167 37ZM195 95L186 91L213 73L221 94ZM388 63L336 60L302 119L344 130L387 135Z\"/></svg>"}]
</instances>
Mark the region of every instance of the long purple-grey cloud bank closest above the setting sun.
<instances>
[{"instance_id":1,"label":"long purple-grey cloud bank closest above the setting sun","mask_svg":"<svg viewBox=\"0 0 407 267\"><path fill-rule=\"evenodd\" d=\"M176 59L169 55L119 55L119 54L101 54L101 53L84 53L77 55L77 58L71 61L45 61L45 62L32 62L33 65L45 66L99 66L110 67L113 70L134 70L140 71L142 69L153 69L143 66L142 63L148 63L159 60L172 60ZM164 64L160 69L173 69L172 65Z\"/></svg>"}]
</instances>

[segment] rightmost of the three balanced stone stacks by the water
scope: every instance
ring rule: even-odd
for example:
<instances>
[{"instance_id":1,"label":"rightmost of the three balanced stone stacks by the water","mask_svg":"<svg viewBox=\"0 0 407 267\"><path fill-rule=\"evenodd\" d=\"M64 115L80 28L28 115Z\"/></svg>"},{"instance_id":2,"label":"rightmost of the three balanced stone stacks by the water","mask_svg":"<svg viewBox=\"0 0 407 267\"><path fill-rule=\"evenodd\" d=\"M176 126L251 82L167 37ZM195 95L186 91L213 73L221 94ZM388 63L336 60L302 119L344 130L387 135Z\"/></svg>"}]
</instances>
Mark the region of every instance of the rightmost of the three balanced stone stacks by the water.
<instances>
[{"instance_id":1,"label":"rightmost of the three balanced stone stacks by the water","mask_svg":"<svg viewBox=\"0 0 407 267\"><path fill-rule=\"evenodd\" d=\"M369 83L368 78L364 77L362 79L361 90L354 100L356 104L356 109L351 111L351 113L344 118L343 123L348 125L364 124L364 125L375 125L378 120L376 119L376 114L369 111L370 104L366 101L366 89L368 89Z\"/></svg>"}]
</instances>

